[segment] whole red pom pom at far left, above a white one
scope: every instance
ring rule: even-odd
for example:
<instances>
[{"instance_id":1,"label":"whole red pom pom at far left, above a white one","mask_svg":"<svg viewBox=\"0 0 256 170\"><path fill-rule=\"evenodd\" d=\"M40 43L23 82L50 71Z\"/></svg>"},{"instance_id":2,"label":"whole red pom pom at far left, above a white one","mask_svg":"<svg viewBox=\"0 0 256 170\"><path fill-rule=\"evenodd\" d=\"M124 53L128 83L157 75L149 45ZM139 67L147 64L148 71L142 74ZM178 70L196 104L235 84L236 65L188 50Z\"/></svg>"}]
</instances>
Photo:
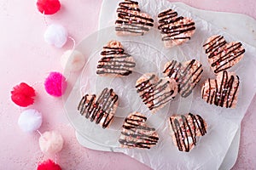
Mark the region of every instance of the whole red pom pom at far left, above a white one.
<instances>
[{"instance_id":1,"label":"whole red pom pom at far left, above a white one","mask_svg":"<svg viewBox=\"0 0 256 170\"><path fill-rule=\"evenodd\" d=\"M16 105L26 107L34 103L33 97L36 96L34 88L28 86L25 82L21 82L19 85L11 91L11 99Z\"/></svg>"}]
</instances>

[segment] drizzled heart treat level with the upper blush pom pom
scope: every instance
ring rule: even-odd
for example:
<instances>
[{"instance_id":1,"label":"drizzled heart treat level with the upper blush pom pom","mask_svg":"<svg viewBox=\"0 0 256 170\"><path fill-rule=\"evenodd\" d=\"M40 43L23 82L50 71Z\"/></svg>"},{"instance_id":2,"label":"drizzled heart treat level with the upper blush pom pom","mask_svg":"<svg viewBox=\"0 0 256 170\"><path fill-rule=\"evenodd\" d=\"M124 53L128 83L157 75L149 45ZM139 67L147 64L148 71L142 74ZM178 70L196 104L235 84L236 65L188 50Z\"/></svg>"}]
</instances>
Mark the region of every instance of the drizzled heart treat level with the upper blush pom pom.
<instances>
[{"instance_id":1,"label":"drizzled heart treat level with the upper blush pom pom","mask_svg":"<svg viewBox=\"0 0 256 170\"><path fill-rule=\"evenodd\" d=\"M100 76L122 77L131 74L135 61L118 41L110 41L103 47L102 59L98 61L96 74Z\"/></svg>"}]
</instances>

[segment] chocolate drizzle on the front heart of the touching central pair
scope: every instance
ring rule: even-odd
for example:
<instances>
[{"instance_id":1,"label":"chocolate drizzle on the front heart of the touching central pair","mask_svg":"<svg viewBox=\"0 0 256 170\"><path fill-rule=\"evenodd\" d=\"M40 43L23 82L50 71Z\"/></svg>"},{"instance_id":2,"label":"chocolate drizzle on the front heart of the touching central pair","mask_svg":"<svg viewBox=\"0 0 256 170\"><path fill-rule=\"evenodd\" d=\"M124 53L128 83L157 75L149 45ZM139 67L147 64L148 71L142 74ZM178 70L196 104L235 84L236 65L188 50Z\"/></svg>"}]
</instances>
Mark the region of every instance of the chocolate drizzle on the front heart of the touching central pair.
<instances>
[{"instance_id":1,"label":"chocolate drizzle on the front heart of the touching central pair","mask_svg":"<svg viewBox=\"0 0 256 170\"><path fill-rule=\"evenodd\" d=\"M137 93L140 94L144 104L148 105L150 111L162 107L174 98L173 89L166 91L166 88L169 89L170 82L160 79L158 82L152 83L151 80L154 77L155 75L152 74L148 79L136 85Z\"/></svg>"}]
</instances>

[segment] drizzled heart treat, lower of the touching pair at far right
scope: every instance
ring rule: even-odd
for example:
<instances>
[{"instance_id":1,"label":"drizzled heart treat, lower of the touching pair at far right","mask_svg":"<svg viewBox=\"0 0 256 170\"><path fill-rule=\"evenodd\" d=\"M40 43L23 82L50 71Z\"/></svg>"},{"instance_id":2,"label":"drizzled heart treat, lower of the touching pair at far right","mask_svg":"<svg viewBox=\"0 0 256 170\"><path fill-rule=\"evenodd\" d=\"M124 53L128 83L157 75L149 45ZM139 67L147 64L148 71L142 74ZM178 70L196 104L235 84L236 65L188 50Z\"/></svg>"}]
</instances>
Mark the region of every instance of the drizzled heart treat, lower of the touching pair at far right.
<instances>
[{"instance_id":1,"label":"drizzled heart treat, lower of the touching pair at far right","mask_svg":"<svg viewBox=\"0 0 256 170\"><path fill-rule=\"evenodd\" d=\"M201 97L208 104L235 108L239 91L239 77L235 72L219 72L215 80L210 78L201 88Z\"/></svg>"}]
</instances>

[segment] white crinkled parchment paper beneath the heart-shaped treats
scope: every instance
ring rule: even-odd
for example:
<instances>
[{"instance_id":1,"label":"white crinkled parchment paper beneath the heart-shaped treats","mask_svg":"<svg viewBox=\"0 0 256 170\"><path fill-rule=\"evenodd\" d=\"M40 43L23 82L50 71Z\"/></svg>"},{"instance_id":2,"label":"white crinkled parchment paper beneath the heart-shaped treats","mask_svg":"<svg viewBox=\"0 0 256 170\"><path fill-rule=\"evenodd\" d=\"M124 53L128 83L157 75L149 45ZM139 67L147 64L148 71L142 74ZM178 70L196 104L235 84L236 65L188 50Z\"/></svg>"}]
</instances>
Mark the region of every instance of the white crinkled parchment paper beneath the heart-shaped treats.
<instances>
[{"instance_id":1,"label":"white crinkled parchment paper beneath the heart-shaped treats","mask_svg":"<svg viewBox=\"0 0 256 170\"><path fill-rule=\"evenodd\" d=\"M173 8L177 10L178 14L193 18L196 26L194 37L189 42L172 49L164 48L163 42L160 41L160 32L156 29L152 29L143 37L116 37L113 23L116 17L115 8L117 8L119 2L109 0L109 13L102 14L106 23L109 23L109 27L85 38L77 47L87 57L88 62L84 66L84 70L78 74L77 79L73 78L73 89L71 89L72 91L65 105L67 116L76 130L85 138L96 144L112 147L113 151L124 152L154 169L218 169L256 91L256 77L253 73L253 66L256 64L253 55L255 48L242 42L246 48L244 59L241 59L239 64L230 69L230 71L236 71L241 79L236 109L208 105L201 99L201 83L207 77L214 78L214 75L207 63L207 56L204 54L202 44L207 37L215 34L224 35L228 42L239 40L224 31L218 30L207 21L202 20L201 17L195 16L189 11L183 10L183 8L177 8L172 3L155 0L150 1L150 3L148 3L149 1L138 2L142 11L151 14L155 21L157 14L165 8ZM156 22L155 26L157 26ZM108 41L113 39L122 42L125 51L136 60L135 71L129 77L96 76L96 64L101 58L100 51ZM146 72L155 72L162 77L163 65L170 59L177 59L181 62L187 59L200 60L204 68L203 77L189 99L177 97L170 105L166 105L165 108L152 115L136 93L135 82L138 77ZM105 87L113 88L119 94L120 105L113 126L104 130L80 116L76 108L83 94L98 94ZM156 127L160 135L159 144L151 150L119 148L118 139L122 122L124 117L132 111L141 111L148 116L148 125ZM167 125L168 116L184 114L186 111L200 114L208 124L207 135L202 137L195 149L189 153L178 151L177 147L172 144Z\"/></svg>"}]
</instances>

